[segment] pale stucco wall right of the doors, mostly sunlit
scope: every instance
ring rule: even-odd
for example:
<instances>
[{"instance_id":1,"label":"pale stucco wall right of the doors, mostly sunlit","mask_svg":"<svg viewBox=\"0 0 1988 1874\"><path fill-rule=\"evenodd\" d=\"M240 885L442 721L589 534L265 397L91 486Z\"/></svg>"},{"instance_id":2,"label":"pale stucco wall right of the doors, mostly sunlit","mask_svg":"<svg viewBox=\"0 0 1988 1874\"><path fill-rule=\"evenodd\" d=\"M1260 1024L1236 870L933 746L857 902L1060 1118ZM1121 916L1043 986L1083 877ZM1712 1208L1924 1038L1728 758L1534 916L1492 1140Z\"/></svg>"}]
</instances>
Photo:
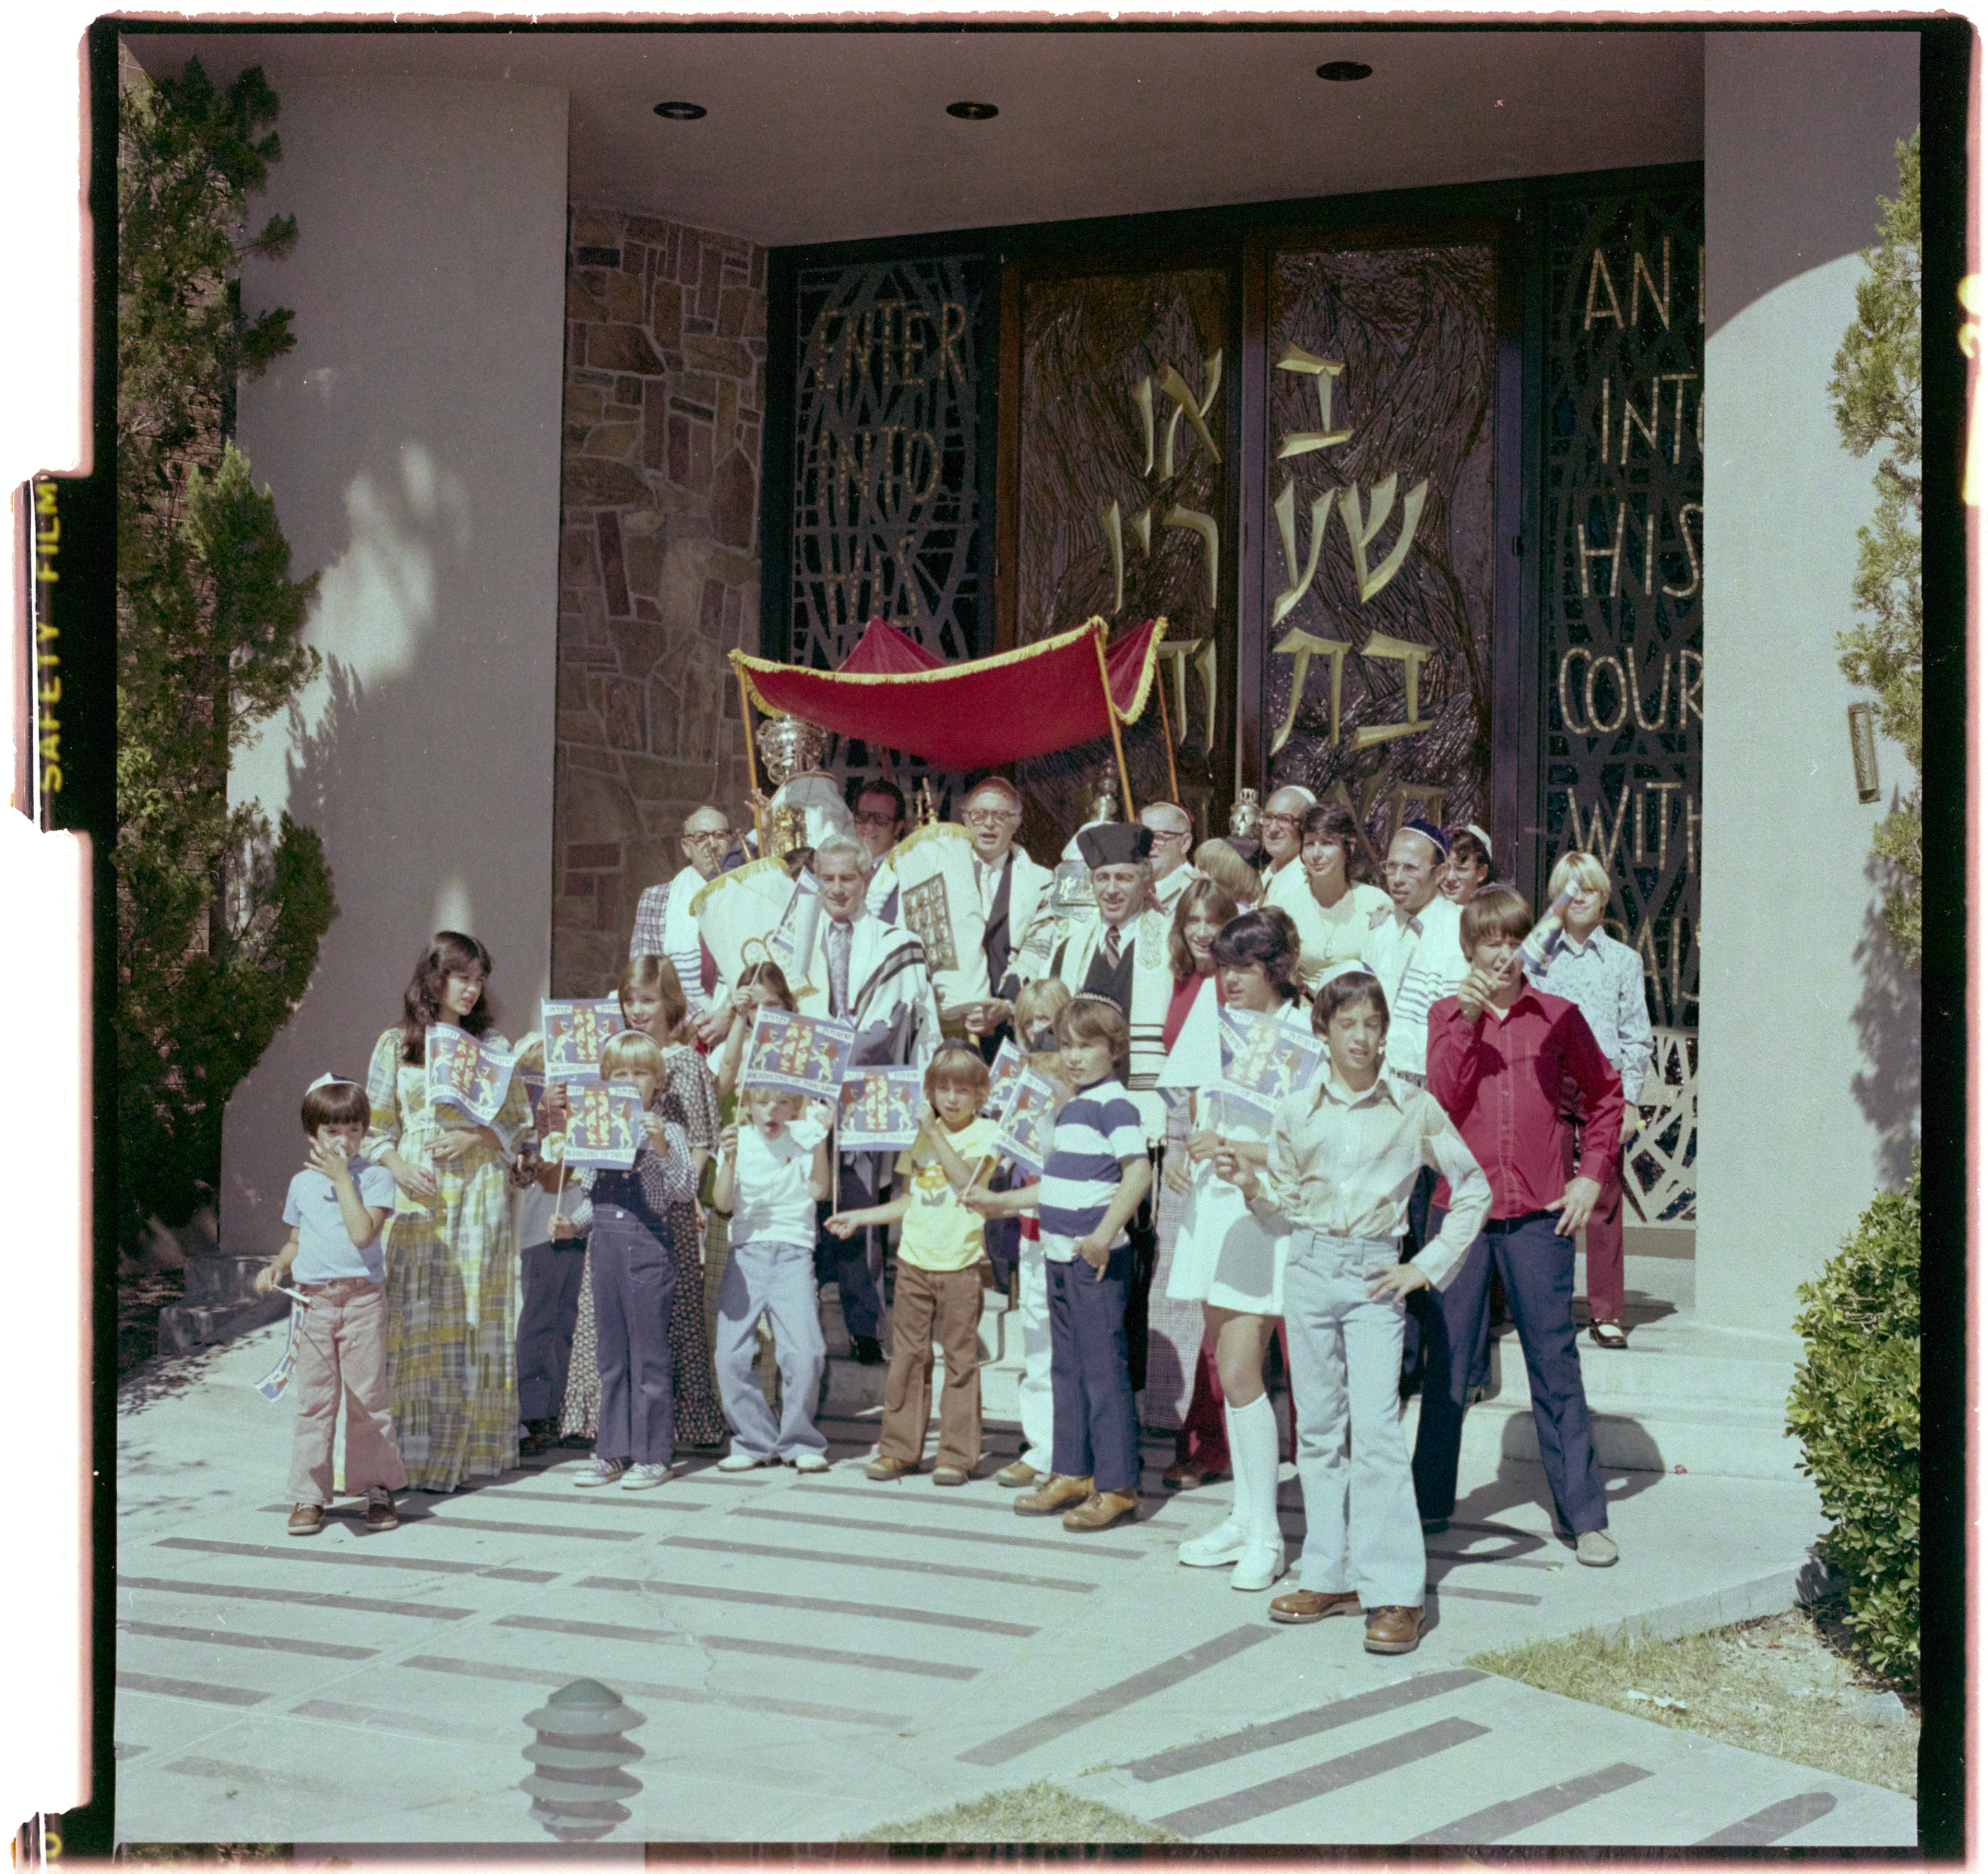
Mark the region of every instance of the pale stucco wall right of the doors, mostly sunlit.
<instances>
[{"instance_id":1,"label":"pale stucco wall right of the doors, mostly sunlit","mask_svg":"<svg viewBox=\"0 0 1988 1874\"><path fill-rule=\"evenodd\" d=\"M1837 670L1875 459L1829 411L1916 34L1706 36L1706 793L1698 1312L1785 1329L1918 1113L1918 984L1879 920Z\"/></svg>"}]
</instances>

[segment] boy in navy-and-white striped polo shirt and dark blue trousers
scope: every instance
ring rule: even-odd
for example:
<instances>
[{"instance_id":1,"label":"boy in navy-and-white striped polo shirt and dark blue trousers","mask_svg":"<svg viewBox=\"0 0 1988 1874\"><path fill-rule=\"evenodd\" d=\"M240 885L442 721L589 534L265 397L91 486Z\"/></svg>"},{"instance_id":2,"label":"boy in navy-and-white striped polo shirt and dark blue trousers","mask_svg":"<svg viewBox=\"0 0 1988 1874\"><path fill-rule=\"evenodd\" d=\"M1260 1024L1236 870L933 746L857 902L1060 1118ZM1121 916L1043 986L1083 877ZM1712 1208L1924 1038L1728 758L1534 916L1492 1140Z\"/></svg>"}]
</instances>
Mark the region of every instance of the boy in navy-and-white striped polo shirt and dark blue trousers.
<instances>
[{"instance_id":1,"label":"boy in navy-and-white striped polo shirt and dark blue trousers","mask_svg":"<svg viewBox=\"0 0 1988 1874\"><path fill-rule=\"evenodd\" d=\"M1074 996L1056 1017L1064 1083L1042 1182L968 1192L982 1216L1040 1210L1050 1284L1052 1475L1016 1514L1064 1510L1064 1528L1097 1530L1139 1508L1139 1419L1125 1365L1125 1224L1153 1182L1139 1109L1117 1077L1131 1027L1115 1002Z\"/></svg>"}]
</instances>

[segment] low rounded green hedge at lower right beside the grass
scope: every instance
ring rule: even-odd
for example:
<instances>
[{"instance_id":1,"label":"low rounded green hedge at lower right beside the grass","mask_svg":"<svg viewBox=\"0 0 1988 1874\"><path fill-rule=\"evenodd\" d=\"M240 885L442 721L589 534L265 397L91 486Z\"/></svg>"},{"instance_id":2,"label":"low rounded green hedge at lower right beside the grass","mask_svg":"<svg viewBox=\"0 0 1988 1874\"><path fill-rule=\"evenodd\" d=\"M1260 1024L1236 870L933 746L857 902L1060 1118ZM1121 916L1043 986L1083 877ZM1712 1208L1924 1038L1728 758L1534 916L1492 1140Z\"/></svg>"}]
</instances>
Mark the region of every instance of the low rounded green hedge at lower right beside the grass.
<instances>
[{"instance_id":1,"label":"low rounded green hedge at lower right beside the grass","mask_svg":"<svg viewBox=\"0 0 1988 1874\"><path fill-rule=\"evenodd\" d=\"M1918 1673L1918 1161L1879 1192L1823 1274L1799 1290L1807 1359L1787 1429L1829 1516L1823 1558L1845 1578L1873 1667Z\"/></svg>"}]
</instances>

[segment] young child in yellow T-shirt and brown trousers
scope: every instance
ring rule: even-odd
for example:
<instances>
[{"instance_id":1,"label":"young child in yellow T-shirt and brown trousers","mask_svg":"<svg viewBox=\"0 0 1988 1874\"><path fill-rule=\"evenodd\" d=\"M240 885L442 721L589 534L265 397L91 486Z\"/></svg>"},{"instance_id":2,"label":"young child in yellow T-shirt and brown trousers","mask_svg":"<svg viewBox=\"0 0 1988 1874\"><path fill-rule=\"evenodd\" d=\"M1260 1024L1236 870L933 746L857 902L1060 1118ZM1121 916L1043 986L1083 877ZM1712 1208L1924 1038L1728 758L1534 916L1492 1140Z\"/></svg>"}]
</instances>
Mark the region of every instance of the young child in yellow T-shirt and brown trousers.
<instances>
[{"instance_id":1,"label":"young child in yellow T-shirt and brown trousers","mask_svg":"<svg viewBox=\"0 0 1988 1874\"><path fill-rule=\"evenodd\" d=\"M924 1071L918 1139L897 1161L905 1194L869 1210L839 1210L827 1228L849 1236L865 1224L903 1222L897 1298L891 1308L891 1373L883 1391L883 1435L865 1477L897 1479L924 1459L932 1413L932 1341L946 1353L938 1395L934 1484L962 1484L980 1463L980 1302L990 1274L980 1218L960 1192L994 1171L992 1119L980 1117L988 1069L978 1047L948 1043Z\"/></svg>"}]
</instances>

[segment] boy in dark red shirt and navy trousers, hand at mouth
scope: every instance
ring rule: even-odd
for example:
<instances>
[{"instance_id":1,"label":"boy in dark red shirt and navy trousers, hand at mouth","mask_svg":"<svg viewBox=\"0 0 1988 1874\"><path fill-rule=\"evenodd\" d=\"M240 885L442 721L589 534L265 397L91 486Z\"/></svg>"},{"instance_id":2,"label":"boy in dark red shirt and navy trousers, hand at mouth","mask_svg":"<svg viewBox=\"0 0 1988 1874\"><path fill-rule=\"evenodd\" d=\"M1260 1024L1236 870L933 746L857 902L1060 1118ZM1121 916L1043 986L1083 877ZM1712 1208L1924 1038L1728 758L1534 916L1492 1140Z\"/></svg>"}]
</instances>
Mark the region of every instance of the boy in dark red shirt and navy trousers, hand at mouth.
<instances>
[{"instance_id":1,"label":"boy in dark red shirt and navy trousers, hand at mouth","mask_svg":"<svg viewBox=\"0 0 1988 1874\"><path fill-rule=\"evenodd\" d=\"M1429 1091L1491 1178L1491 1216L1423 1316L1429 1351L1415 1427L1415 1504L1423 1528L1431 1528L1447 1522L1457 1502L1463 1397L1471 1351L1485 1333L1495 1262L1525 1351L1555 1508L1574 1534L1574 1560L1606 1568L1616 1544L1574 1347L1573 1236L1588 1220L1600 1174L1618 1149L1622 1077L1580 1010L1525 980L1519 944L1531 928L1533 912L1517 892L1477 892L1463 906L1459 930L1469 974L1455 996L1429 1010ZM1567 1176L1571 1123L1561 1099L1569 1083L1586 1115L1574 1178ZM1445 1182L1429 1208L1431 1230L1447 1208Z\"/></svg>"}]
</instances>

